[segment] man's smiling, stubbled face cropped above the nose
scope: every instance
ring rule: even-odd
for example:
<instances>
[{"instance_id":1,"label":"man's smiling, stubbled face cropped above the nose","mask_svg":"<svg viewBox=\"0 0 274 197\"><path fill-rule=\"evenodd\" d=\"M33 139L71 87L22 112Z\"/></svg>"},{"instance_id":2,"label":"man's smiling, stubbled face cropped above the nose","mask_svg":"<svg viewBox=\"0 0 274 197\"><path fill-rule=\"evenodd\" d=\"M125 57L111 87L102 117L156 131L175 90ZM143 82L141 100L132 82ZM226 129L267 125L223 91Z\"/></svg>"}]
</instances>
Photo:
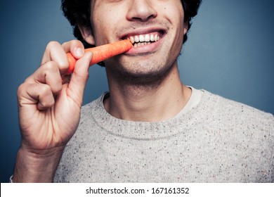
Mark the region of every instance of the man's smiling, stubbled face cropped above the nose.
<instances>
[{"instance_id":1,"label":"man's smiling, stubbled face cropped above the nose","mask_svg":"<svg viewBox=\"0 0 274 197\"><path fill-rule=\"evenodd\" d=\"M131 39L133 48L105 61L112 73L160 77L181 51L185 27L181 0L93 0L91 27L96 45Z\"/></svg>"}]
</instances>

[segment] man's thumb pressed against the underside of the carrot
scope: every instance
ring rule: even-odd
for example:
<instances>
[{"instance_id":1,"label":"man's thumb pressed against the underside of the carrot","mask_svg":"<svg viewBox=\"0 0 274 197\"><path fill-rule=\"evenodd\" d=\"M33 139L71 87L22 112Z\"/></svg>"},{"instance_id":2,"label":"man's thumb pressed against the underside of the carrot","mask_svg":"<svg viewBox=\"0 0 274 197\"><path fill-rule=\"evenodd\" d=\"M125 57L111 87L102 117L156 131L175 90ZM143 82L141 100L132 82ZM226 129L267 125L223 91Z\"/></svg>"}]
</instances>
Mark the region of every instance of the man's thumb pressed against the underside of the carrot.
<instances>
[{"instance_id":1,"label":"man's thumb pressed against the underside of the carrot","mask_svg":"<svg viewBox=\"0 0 274 197\"><path fill-rule=\"evenodd\" d=\"M70 84L67 87L67 93L70 92L70 96L73 96L74 101L81 102L83 100L84 89L89 79L89 64L92 56L93 53L86 52L75 64Z\"/></svg>"}]
</instances>

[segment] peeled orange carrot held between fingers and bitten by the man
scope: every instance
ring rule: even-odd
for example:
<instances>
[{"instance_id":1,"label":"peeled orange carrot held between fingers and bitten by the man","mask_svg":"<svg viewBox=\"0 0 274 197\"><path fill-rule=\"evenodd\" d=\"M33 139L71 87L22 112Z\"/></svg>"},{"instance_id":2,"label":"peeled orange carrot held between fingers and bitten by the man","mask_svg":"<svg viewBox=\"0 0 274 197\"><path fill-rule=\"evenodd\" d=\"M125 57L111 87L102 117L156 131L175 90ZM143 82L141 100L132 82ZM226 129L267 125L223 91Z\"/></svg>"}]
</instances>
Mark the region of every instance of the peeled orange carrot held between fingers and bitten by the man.
<instances>
[{"instance_id":1,"label":"peeled orange carrot held between fingers and bitten by the man","mask_svg":"<svg viewBox=\"0 0 274 197\"><path fill-rule=\"evenodd\" d=\"M129 51L129 49L131 48L131 41L129 39L124 39L118 42L113 42L110 44L85 49L85 52L91 51L93 53L91 63L89 64L93 65L99 63L100 61L104 61L107 58L111 58L112 56L117 56L121 53ZM70 63L70 67L67 70L67 74L70 75L74 70L74 65L77 62L77 58L74 58L74 56L72 56L72 53L67 53L67 59Z\"/></svg>"}]
</instances>

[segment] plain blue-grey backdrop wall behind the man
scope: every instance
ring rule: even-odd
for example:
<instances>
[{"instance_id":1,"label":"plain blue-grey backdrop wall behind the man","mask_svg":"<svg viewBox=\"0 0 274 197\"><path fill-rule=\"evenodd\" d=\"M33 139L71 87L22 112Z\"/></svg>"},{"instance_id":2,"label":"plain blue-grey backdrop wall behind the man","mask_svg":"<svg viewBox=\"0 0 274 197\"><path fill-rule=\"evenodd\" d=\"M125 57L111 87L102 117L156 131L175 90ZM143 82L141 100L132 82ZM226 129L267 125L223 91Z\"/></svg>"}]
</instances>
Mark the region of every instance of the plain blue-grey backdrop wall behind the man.
<instances>
[{"instance_id":1,"label":"plain blue-grey backdrop wall behind the man","mask_svg":"<svg viewBox=\"0 0 274 197\"><path fill-rule=\"evenodd\" d=\"M179 67L185 84L274 113L274 1L204 0ZM1 169L13 174L20 146L16 91L51 40L73 39L59 0L0 1ZM90 69L84 103L107 90L104 68Z\"/></svg>"}]
</instances>

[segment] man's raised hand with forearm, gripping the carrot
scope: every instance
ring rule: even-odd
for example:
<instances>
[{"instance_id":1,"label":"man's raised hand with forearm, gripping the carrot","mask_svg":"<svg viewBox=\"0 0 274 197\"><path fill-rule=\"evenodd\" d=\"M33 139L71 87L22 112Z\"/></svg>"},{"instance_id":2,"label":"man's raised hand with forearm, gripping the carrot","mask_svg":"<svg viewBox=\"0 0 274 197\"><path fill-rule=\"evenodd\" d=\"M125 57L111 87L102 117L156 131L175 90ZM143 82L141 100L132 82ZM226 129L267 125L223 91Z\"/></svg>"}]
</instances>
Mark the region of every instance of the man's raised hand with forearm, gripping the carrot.
<instances>
[{"instance_id":1,"label":"man's raised hand with forearm, gripping the carrot","mask_svg":"<svg viewBox=\"0 0 274 197\"><path fill-rule=\"evenodd\" d=\"M67 76L66 53L77 61ZM18 88L22 144L13 182L52 182L67 142L76 131L92 53L79 41L50 42L41 66Z\"/></svg>"}]
</instances>

